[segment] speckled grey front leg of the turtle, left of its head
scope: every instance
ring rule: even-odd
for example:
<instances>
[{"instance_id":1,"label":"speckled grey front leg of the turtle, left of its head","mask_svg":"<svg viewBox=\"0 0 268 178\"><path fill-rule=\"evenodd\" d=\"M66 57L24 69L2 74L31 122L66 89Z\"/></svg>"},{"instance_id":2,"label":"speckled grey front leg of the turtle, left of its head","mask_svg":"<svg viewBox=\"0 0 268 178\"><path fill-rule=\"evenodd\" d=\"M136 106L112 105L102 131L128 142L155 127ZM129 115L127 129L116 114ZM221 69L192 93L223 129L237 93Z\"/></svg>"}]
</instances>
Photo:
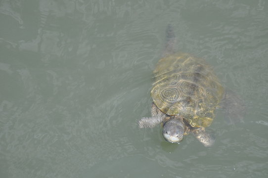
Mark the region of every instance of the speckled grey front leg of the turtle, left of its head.
<instances>
[{"instance_id":1,"label":"speckled grey front leg of the turtle, left of its head","mask_svg":"<svg viewBox=\"0 0 268 178\"><path fill-rule=\"evenodd\" d=\"M138 121L139 128L153 128L165 120L167 115L163 113L154 103L151 108L152 117L141 118Z\"/></svg>"}]
</instances>

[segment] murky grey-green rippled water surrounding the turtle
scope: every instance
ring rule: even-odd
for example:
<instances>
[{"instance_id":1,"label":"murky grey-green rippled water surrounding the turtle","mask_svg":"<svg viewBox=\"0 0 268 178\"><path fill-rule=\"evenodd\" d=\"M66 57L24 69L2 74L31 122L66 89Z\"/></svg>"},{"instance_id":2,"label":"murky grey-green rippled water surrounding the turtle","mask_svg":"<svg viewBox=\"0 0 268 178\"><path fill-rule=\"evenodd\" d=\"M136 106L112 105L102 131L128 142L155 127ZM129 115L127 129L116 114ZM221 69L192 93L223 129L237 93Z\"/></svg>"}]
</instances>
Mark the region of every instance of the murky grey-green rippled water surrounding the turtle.
<instances>
[{"instance_id":1,"label":"murky grey-green rippled water surrounding the turtle","mask_svg":"<svg viewBox=\"0 0 268 178\"><path fill-rule=\"evenodd\" d=\"M168 23L243 98L206 148L150 116ZM267 178L267 0L1 0L1 178Z\"/></svg>"}]
</instances>

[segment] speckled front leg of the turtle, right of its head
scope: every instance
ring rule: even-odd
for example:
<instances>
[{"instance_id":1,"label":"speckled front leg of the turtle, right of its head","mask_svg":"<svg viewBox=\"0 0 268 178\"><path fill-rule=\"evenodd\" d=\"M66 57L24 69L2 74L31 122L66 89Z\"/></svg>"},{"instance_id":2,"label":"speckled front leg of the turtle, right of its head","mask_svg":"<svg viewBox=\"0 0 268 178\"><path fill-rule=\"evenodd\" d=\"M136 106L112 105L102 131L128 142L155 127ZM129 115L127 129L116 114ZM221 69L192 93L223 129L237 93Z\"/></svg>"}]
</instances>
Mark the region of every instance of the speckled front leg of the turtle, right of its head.
<instances>
[{"instance_id":1,"label":"speckled front leg of the turtle, right of its head","mask_svg":"<svg viewBox=\"0 0 268 178\"><path fill-rule=\"evenodd\" d=\"M214 135L207 133L203 127L191 129L190 132L206 147L212 146L215 142Z\"/></svg>"}]
</instances>

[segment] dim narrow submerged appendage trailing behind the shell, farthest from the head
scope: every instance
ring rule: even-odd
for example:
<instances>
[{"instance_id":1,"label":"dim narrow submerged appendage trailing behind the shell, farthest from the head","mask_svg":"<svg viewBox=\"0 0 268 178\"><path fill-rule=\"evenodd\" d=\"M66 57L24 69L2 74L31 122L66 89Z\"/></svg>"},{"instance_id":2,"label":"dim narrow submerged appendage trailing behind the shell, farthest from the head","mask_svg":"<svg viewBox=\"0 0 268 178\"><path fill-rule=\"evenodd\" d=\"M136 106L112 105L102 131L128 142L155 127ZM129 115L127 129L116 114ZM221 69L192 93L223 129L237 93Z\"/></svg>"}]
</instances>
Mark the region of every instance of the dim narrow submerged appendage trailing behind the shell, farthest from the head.
<instances>
[{"instance_id":1,"label":"dim narrow submerged appendage trailing behind the shell, farthest from the head","mask_svg":"<svg viewBox=\"0 0 268 178\"><path fill-rule=\"evenodd\" d=\"M174 45L176 42L176 37L174 33L174 28L171 24L168 25L166 30L166 45L163 52L163 57L174 53Z\"/></svg>"}]
</instances>

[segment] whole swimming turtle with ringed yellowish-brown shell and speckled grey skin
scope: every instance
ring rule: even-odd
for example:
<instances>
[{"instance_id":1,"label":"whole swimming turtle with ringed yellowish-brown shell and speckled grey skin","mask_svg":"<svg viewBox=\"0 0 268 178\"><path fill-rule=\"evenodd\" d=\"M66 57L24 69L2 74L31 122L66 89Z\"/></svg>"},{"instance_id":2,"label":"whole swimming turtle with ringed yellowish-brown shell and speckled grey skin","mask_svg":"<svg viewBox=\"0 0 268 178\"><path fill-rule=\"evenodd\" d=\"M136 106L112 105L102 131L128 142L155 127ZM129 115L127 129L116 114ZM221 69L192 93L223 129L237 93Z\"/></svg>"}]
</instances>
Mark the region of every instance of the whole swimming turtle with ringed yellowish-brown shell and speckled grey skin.
<instances>
[{"instance_id":1,"label":"whole swimming turtle with ringed yellowish-brown shell and speckled grey skin","mask_svg":"<svg viewBox=\"0 0 268 178\"><path fill-rule=\"evenodd\" d=\"M166 37L163 57L153 71L152 116L141 118L138 126L152 128L162 124L162 135L168 142L179 143L185 134L192 133L204 146L212 146L215 136L206 132L205 128L215 119L214 111L224 108L222 103L227 104L226 113L242 112L244 108L238 97L226 92L213 68L204 59L174 52L172 25L168 25ZM234 102L230 103L230 98ZM242 121L242 114L236 116Z\"/></svg>"}]
</instances>

